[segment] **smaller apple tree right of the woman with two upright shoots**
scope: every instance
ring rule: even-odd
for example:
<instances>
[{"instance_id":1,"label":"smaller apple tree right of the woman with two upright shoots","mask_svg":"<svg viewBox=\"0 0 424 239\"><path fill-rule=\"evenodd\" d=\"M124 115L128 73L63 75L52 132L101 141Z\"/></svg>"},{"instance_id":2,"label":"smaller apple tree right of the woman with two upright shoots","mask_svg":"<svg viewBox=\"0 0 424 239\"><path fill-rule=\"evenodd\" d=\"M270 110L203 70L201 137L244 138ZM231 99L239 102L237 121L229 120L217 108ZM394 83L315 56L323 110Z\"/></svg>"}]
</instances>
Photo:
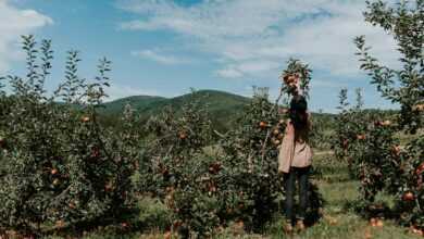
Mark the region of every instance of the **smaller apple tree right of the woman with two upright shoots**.
<instances>
[{"instance_id":1,"label":"smaller apple tree right of the woman with two upright shoots","mask_svg":"<svg viewBox=\"0 0 424 239\"><path fill-rule=\"evenodd\" d=\"M348 163L352 178L361 180L363 199L373 202L375 194L386 187L394 165L387 159L397 147L394 127L387 115L362 110L361 91L357 90L357 105L348 109L347 89L339 95L340 114L337 116L334 138L335 155ZM388 164L388 165L387 165Z\"/></svg>"}]
</instances>

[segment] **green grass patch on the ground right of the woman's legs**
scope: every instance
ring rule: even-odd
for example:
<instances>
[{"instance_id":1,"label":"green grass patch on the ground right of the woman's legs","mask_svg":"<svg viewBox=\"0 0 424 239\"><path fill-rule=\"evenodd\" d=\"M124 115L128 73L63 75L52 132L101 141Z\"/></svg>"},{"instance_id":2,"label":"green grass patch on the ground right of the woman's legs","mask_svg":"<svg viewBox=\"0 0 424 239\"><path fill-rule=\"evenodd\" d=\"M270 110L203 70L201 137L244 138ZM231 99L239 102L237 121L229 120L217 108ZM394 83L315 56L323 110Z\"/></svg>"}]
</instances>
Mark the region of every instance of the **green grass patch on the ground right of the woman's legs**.
<instances>
[{"instance_id":1,"label":"green grass patch on the ground right of the woman's legs","mask_svg":"<svg viewBox=\"0 0 424 239\"><path fill-rule=\"evenodd\" d=\"M323 218L312 227L292 238L421 238L411 235L407 228L391 221L384 221L383 228L371 227L367 219L360 217L350 209L349 203L358 197L358 181L349 180L346 165L335 162L331 154L316 156L314 165L321 168L323 177L319 187L326 200ZM282 221L272 225L266 238L285 238Z\"/></svg>"}]
</instances>

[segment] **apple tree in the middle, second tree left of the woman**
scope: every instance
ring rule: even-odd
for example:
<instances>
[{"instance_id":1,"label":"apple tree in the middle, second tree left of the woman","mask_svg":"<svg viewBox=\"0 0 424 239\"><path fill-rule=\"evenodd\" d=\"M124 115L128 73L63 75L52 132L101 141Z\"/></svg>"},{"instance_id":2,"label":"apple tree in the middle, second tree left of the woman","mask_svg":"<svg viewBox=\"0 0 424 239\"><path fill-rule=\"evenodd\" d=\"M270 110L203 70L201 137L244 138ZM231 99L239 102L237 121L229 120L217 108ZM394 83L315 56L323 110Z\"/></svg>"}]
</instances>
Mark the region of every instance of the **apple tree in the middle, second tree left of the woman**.
<instances>
[{"instance_id":1,"label":"apple tree in the middle, second tree left of the woman","mask_svg":"<svg viewBox=\"0 0 424 239\"><path fill-rule=\"evenodd\" d=\"M204 236L219 224L216 186L212 178L205 179L210 164L219 162L203 153L212 138L208 111L195 100L186 102L182 112L176 117L172 108L165 108L147 123L139 187L172 210L173 229Z\"/></svg>"}]
</instances>

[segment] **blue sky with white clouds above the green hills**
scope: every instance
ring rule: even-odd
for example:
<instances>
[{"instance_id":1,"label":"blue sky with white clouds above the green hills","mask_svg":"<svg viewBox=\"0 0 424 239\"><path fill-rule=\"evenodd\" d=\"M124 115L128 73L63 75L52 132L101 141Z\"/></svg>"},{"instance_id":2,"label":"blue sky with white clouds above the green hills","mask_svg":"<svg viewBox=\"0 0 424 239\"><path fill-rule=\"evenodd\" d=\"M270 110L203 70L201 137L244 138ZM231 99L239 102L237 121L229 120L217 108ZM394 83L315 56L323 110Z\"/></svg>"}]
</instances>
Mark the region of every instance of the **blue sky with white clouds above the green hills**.
<instances>
[{"instance_id":1,"label":"blue sky with white clouds above the green hills","mask_svg":"<svg viewBox=\"0 0 424 239\"><path fill-rule=\"evenodd\" d=\"M396 42L365 23L363 0L0 0L0 75L23 75L21 35L51 39L53 70L63 79L68 50L92 79L98 60L112 61L109 99L176 97L190 88L252 96L278 93L289 58L313 70L309 106L336 112L338 92L361 88L366 108L397 105L381 98L359 68L353 38L365 35L384 64L398 67Z\"/></svg>"}]
</instances>

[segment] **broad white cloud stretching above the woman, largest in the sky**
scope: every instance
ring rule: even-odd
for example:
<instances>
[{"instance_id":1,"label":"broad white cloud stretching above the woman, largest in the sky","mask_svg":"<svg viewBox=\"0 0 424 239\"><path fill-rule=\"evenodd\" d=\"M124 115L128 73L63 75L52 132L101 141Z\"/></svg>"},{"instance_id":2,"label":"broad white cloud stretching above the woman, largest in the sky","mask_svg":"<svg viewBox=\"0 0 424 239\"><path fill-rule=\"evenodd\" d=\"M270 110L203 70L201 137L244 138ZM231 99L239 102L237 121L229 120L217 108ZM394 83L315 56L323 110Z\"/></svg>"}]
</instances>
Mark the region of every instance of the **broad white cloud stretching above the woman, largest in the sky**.
<instances>
[{"instance_id":1,"label":"broad white cloud stretching above the woman, largest in the sky","mask_svg":"<svg viewBox=\"0 0 424 239\"><path fill-rule=\"evenodd\" d=\"M332 75L357 75L352 40L359 35L389 65L398 56L394 40L364 23L363 0L203 0L189 7L172 0L121 0L120 7L141 16L123 28L177 33L194 50L217 55L222 77L277 77L277 65L283 67L289 56Z\"/></svg>"}]
</instances>

